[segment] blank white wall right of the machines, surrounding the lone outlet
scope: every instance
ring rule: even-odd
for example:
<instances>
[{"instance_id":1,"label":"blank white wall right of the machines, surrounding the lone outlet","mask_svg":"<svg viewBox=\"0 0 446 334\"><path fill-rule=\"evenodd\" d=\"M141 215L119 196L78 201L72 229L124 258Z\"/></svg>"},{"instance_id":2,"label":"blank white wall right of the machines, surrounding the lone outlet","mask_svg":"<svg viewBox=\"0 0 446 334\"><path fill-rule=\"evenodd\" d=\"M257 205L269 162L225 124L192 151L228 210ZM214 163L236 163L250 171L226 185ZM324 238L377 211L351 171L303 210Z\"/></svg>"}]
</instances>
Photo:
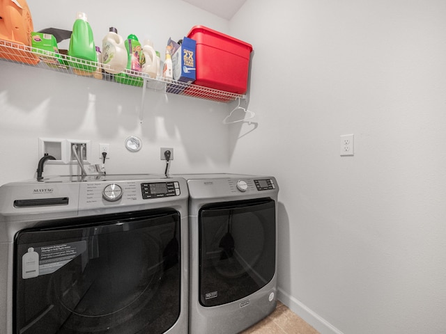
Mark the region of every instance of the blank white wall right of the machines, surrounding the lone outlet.
<instances>
[{"instance_id":1,"label":"blank white wall right of the machines, surrounding the lone outlet","mask_svg":"<svg viewBox=\"0 0 446 334\"><path fill-rule=\"evenodd\" d=\"M231 20L256 113L231 125L231 170L277 176L279 297L321 333L446 332L445 17L247 0Z\"/></svg>"}]
</instances>

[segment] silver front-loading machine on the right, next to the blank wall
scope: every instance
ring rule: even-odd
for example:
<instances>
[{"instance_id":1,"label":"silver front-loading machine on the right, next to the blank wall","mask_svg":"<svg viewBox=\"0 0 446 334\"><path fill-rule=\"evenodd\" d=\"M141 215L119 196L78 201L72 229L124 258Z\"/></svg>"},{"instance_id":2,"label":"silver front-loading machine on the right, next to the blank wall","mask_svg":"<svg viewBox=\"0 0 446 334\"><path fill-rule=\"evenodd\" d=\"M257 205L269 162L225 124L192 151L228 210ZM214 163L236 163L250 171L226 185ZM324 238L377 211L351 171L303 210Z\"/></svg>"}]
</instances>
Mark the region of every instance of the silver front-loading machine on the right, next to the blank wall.
<instances>
[{"instance_id":1,"label":"silver front-loading machine on the right, next to the blank wall","mask_svg":"<svg viewBox=\"0 0 446 334\"><path fill-rule=\"evenodd\" d=\"M274 177L181 175L189 187L189 333L239 333L277 303Z\"/></svg>"}]
</instances>

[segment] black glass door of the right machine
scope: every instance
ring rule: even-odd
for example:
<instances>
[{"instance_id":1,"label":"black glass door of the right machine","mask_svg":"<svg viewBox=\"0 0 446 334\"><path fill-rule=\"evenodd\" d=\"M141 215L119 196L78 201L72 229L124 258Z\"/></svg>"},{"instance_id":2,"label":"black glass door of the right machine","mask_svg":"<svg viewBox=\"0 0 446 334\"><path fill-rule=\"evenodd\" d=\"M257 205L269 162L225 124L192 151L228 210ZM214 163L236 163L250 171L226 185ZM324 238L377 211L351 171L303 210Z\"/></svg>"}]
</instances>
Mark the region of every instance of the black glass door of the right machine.
<instances>
[{"instance_id":1,"label":"black glass door of the right machine","mask_svg":"<svg viewBox=\"0 0 446 334\"><path fill-rule=\"evenodd\" d=\"M203 306L249 296L275 273L276 218L271 199L225 202L199 212L199 292Z\"/></svg>"}]
</instances>

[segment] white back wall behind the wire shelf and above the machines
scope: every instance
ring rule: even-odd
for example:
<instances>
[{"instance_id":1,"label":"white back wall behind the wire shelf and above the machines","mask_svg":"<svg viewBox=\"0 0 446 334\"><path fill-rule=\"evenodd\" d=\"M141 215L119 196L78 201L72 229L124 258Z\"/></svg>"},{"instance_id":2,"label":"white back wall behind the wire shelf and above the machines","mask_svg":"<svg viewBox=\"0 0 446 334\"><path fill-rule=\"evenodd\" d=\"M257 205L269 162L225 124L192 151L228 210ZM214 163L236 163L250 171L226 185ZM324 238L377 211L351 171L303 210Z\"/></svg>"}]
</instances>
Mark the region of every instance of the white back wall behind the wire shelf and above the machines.
<instances>
[{"instance_id":1,"label":"white back wall behind the wire shelf and above the machines","mask_svg":"<svg viewBox=\"0 0 446 334\"><path fill-rule=\"evenodd\" d=\"M102 46L109 26L115 26L124 38L130 33L139 40L151 38L162 58L169 37L183 38L194 25L229 29L227 20L180 0L28 4L35 31L71 30L77 11L84 11L95 45ZM0 61L0 184L35 176L39 137L90 140L93 164L100 162L99 143L109 143L107 173L164 173L161 147L174 148L171 173L226 170L229 133L222 120L229 104L147 90L141 125L141 97L142 88ZM137 153L124 148L131 135L143 141ZM45 164L44 175L69 173L78 173L77 167Z\"/></svg>"}]
</instances>

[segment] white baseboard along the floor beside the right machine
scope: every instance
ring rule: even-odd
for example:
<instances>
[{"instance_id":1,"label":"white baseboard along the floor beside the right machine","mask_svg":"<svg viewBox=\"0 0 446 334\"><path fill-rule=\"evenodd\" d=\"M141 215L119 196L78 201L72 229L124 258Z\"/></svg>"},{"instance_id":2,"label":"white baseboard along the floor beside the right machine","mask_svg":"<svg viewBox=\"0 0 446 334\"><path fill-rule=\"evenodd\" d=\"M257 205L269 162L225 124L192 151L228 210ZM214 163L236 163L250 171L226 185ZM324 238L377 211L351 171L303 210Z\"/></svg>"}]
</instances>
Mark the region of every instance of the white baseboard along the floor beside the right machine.
<instances>
[{"instance_id":1,"label":"white baseboard along the floor beside the right machine","mask_svg":"<svg viewBox=\"0 0 446 334\"><path fill-rule=\"evenodd\" d=\"M332 326L328 321L323 319L313 310L310 310L304 304L300 303L293 296L290 296L284 290L277 289L277 299L284 303L290 310L295 312L296 315L307 321L308 324L313 326L316 331L321 334L344 334L336 327Z\"/></svg>"}]
</instances>

